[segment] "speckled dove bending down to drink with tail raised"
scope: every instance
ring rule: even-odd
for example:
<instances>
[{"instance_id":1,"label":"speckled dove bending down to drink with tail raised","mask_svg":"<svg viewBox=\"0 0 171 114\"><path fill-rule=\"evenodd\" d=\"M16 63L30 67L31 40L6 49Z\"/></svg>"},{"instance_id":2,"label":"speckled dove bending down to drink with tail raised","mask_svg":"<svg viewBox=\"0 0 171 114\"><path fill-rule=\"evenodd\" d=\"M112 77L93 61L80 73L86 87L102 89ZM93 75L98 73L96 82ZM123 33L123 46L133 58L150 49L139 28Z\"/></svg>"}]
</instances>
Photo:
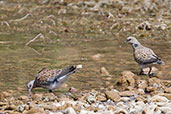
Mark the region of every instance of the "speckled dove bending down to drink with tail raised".
<instances>
[{"instance_id":1,"label":"speckled dove bending down to drink with tail raised","mask_svg":"<svg viewBox=\"0 0 171 114\"><path fill-rule=\"evenodd\" d=\"M36 75L36 79L27 84L29 98L31 97L32 89L37 87L47 88L49 89L49 92L56 95L54 89L60 88L69 76L80 68L82 68L82 65L68 66L65 69L43 68Z\"/></svg>"}]
</instances>

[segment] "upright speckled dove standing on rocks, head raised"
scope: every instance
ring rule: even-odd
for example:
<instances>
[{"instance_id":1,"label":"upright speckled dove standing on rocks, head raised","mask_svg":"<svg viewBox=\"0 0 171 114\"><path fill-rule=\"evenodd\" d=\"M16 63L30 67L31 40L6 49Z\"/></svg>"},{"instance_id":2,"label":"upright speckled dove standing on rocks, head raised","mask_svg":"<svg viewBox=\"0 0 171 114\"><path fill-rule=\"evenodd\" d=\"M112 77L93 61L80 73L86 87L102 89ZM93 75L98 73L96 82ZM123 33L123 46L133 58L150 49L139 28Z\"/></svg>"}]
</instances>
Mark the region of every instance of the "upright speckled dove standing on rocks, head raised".
<instances>
[{"instance_id":1,"label":"upright speckled dove standing on rocks, head raised","mask_svg":"<svg viewBox=\"0 0 171 114\"><path fill-rule=\"evenodd\" d=\"M143 68L149 68L148 75L151 77L153 75L153 73L151 73L152 66L156 64L165 64L161 59L158 58L153 50L141 45L135 37L128 37L125 42L132 45L134 59L140 67L140 75L144 74Z\"/></svg>"}]
</instances>

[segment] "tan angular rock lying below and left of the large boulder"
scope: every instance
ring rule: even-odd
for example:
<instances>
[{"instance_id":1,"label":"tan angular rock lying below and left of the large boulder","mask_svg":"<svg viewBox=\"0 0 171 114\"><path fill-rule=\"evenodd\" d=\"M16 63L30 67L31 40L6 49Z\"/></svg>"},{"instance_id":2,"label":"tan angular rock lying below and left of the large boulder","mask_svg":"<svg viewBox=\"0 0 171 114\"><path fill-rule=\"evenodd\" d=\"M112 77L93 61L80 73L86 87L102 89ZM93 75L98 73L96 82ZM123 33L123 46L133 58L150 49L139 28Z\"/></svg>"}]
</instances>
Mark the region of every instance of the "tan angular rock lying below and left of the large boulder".
<instances>
[{"instance_id":1,"label":"tan angular rock lying below and left of the large boulder","mask_svg":"<svg viewBox=\"0 0 171 114\"><path fill-rule=\"evenodd\" d=\"M111 99L114 102L120 101L120 96L119 96L119 93L118 92L115 92L115 91L106 91L105 94L106 94L106 97L108 99Z\"/></svg>"}]
</instances>

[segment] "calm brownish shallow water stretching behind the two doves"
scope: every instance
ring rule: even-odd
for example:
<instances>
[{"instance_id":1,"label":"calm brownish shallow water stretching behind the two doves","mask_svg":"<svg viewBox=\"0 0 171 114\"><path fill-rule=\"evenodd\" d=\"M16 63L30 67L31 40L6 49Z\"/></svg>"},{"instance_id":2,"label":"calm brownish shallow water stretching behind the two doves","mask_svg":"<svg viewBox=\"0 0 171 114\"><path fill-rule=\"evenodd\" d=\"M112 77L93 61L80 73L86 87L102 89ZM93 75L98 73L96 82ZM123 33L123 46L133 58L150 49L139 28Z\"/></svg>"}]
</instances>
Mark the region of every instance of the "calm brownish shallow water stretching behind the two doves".
<instances>
[{"instance_id":1,"label":"calm brownish shallow water stretching behind the two doves","mask_svg":"<svg viewBox=\"0 0 171 114\"><path fill-rule=\"evenodd\" d=\"M15 36L15 35L13 35ZM9 35L6 37L10 38ZM17 39L18 36L16 36ZM3 39L1 37L0 39ZM15 38L14 38L15 39ZM164 73L163 79L171 79L170 50L171 44L160 40L151 42L151 39L141 40L143 44L151 47L166 62L166 67L160 70ZM118 41L116 38L69 39L58 43L34 45L36 49L20 43L0 44L0 90L24 88L27 82L35 78L41 68L64 68L68 65L82 64L83 69L71 76L67 83L79 89L100 89L108 85L115 85L116 80L124 70L138 73L138 65L132 57L130 45ZM37 50L37 51L35 51ZM164 51L163 51L164 50ZM93 60L95 54L102 54L100 60ZM105 78L100 74L100 68L105 67L112 75L110 84L106 85Z\"/></svg>"}]
</instances>

